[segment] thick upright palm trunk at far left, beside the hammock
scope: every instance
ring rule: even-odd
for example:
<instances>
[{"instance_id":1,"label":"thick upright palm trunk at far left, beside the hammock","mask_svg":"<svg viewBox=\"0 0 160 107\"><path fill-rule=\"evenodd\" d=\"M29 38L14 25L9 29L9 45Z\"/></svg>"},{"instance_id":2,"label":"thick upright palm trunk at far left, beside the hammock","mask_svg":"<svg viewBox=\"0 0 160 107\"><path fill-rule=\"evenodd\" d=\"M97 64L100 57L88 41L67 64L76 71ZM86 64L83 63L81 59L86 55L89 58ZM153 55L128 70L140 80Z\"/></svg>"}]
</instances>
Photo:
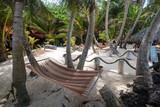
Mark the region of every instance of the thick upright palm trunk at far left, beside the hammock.
<instances>
[{"instance_id":1,"label":"thick upright palm trunk at far left, beside the hammock","mask_svg":"<svg viewBox=\"0 0 160 107\"><path fill-rule=\"evenodd\" d=\"M13 20L13 87L16 89L17 107L29 105L26 89L26 70L23 58L23 0L15 1Z\"/></svg>"}]
</instances>

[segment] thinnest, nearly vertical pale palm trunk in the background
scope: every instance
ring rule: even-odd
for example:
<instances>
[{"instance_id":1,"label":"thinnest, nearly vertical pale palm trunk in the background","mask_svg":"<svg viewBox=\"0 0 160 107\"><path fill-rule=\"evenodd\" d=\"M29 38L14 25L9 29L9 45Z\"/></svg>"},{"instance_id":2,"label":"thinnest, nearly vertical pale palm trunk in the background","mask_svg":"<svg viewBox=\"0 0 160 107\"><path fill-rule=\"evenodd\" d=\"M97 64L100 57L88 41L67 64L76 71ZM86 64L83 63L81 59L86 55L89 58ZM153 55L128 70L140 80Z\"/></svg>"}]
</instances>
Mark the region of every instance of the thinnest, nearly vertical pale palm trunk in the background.
<instances>
[{"instance_id":1,"label":"thinnest, nearly vertical pale palm trunk in the background","mask_svg":"<svg viewBox=\"0 0 160 107\"><path fill-rule=\"evenodd\" d=\"M109 15L109 6L110 6L110 0L107 0L106 17L105 17L106 42L108 42L107 39L109 38L109 35L108 35L108 15ZM110 39L110 38L109 38L109 39Z\"/></svg>"}]
</instances>

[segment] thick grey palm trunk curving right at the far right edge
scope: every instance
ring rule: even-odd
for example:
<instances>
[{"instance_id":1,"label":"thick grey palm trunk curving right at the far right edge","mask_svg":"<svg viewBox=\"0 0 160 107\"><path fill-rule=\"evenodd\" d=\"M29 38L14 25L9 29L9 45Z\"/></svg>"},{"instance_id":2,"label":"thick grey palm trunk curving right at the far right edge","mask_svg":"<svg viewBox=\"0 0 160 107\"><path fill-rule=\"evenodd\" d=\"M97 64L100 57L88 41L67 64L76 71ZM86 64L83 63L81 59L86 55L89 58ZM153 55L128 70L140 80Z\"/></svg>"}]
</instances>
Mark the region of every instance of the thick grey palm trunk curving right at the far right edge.
<instances>
[{"instance_id":1,"label":"thick grey palm trunk curving right at the far right edge","mask_svg":"<svg viewBox=\"0 0 160 107\"><path fill-rule=\"evenodd\" d=\"M156 14L153 22L151 23L151 26L147 30L140 49L139 49L139 55L137 58L137 68L136 68L136 83L138 85L143 85L145 88L151 88L152 87L152 77L149 71L149 65L148 65L148 56L149 56L149 49L151 48L154 35L158 32L160 29L160 11Z\"/></svg>"}]
</instances>

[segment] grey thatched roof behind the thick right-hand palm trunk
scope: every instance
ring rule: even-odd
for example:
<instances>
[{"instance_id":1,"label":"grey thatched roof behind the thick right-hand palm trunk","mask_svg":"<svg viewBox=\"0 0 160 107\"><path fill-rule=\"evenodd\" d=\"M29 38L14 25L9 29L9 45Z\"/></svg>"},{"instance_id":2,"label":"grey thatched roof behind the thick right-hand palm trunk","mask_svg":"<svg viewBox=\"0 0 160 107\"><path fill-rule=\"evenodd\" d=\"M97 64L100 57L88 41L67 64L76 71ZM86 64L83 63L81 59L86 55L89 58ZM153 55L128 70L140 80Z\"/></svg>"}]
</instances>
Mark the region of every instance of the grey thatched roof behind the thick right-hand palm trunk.
<instances>
[{"instance_id":1,"label":"grey thatched roof behind the thick right-hand palm trunk","mask_svg":"<svg viewBox=\"0 0 160 107\"><path fill-rule=\"evenodd\" d=\"M142 30L140 30L138 33L133 34L130 39L128 40L128 42L141 42L145 32L147 31L148 28L144 28ZM157 34L155 34L154 40L160 40L160 29L158 31Z\"/></svg>"}]
</instances>

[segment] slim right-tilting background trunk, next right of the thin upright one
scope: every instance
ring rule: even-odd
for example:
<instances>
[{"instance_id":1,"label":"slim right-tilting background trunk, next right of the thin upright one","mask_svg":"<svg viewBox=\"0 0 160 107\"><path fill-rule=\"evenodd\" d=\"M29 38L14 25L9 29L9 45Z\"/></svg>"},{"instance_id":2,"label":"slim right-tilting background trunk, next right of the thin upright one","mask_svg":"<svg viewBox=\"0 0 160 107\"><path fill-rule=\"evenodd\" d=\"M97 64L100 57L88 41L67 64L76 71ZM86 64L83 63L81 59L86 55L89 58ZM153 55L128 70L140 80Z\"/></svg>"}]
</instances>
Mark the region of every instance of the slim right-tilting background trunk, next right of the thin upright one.
<instances>
[{"instance_id":1,"label":"slim right-tilting background trunk, next right of the thin upright one","mask_svg":"<svg viewBox=\"0 0 160 107\"><path fill-rule=\"evenodd\" d=\"M123 18L123 23L122 23L122 26L121 26L121 29L120 29L120 32L119 32L119 35L118 35L118 38L117 38L117 45L119 45L119 43L121 42L122 37L123 37L123 31L124 31L124 27L125 27L126 20L127 20L129 4L130 4L130 0L125 0L124 18Z\"/></svg>"}]
</instances>

